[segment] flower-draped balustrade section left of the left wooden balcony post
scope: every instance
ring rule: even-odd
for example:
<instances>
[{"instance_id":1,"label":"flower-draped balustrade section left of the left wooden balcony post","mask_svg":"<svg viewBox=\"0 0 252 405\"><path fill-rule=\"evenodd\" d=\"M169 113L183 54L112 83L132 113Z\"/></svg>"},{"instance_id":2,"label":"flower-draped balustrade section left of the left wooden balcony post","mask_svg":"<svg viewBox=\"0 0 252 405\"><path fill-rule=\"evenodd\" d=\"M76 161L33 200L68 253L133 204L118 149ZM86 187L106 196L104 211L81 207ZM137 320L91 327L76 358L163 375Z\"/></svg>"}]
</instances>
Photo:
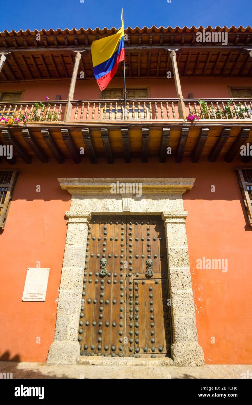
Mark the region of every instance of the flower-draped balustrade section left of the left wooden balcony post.
<instances>
[{"instance_id":1,"label":"flower-draped balustrade section left of the left wooden balcony post","mask_svg":"<svg viewBox=\"0 0 252 405\"><path fill-rule=\"evenodd\" d=\"M42 107L36 108L36 104L42 103ZM63 120L63 112L66 101L34 101L0 104L0 119L25 118L25 122L57 122ZM76 118L78 115L78 109ZM3 121L3 120L2 120ZM21 119L22 122L22 119Z\"/></svg>"}]
</instances>

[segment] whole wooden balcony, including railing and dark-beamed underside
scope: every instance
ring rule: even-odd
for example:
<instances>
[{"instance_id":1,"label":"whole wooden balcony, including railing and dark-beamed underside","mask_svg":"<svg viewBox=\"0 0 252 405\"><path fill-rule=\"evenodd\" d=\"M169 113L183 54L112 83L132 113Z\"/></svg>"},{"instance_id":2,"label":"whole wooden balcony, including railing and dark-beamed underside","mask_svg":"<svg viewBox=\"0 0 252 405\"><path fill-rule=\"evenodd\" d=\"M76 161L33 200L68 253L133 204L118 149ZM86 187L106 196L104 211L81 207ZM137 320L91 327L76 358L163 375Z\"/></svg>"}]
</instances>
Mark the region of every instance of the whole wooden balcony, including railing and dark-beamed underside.
<instances>
[{"instance_id":1,"label":"whole wooden balcony, including railing and dark-beamed underside","mask_svg":"<svg viewBox=\"0 0 252 405\"><path fill-rule=\"evenodd\" d=\"M0 145L13 145L15 158L31 163L33 157L42 162L55 158L75 163L89 158L96 163L106 158L159 157L160 162L175 158L192 162L222 158L231 162L239 156L240 147L252 142L252 100L248 99L184 99L186 115L195 113L199 121L190 123L179 117L178 98L127 99L126 119L123 100L66 100L19 102L0 106L0 117L25 114L26 122L0 124ZM39 102L36 102L39 103ZM70 109L70 119L64 120ZM35 111L36 110L36 111ZM34 114L36 112L36 114ZM80 155L80 148L84 155ZM170 151L168 150L170 148ZM8 163L13 163L6 160ZM250 156L243 157L249 162ZM241 159L241 157L240 157Z\"/></svg>"}]
</instances>

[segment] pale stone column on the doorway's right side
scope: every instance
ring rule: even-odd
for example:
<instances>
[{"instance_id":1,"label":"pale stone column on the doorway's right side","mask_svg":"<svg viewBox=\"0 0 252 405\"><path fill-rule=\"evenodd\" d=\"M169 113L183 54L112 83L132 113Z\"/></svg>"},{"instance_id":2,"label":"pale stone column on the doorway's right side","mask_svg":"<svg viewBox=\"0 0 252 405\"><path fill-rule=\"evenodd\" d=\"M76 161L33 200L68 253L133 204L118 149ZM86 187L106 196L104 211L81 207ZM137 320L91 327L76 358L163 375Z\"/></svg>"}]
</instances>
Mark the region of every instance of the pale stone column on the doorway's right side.
<instances>
[{"instance_id":1,"label":"pale stone column on the doorway's right side","mask_svg":"<svg viewBox=\"0 0 252 405\"><path fill-rule=\"evenodd\" d=\"M186 238L186 211L163 212L167 243L170 298L172 300L174 366L203 366L198 343L191 272Z\"/></svg>"}]
</instances>

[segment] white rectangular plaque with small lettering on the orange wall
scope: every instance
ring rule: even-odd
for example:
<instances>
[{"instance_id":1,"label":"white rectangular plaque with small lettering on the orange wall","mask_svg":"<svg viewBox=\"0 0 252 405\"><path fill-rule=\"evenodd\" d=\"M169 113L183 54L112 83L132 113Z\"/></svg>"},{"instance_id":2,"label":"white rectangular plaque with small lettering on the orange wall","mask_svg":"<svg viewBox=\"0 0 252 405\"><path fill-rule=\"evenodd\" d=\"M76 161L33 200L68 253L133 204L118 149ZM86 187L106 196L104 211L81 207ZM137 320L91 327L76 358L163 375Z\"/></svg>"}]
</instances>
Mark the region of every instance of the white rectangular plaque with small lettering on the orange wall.
<instances>
[{"instance_id":1,"label":"white rectangular plaque with small lettering on the orange wall","mask_svg":"<svg viewBox=\"0 0 252 405\"><path fill-rule=\"evenodd\" d=\"M28 267L22 301L45 301L49 270Z\"/></svg>"}]
</instances>

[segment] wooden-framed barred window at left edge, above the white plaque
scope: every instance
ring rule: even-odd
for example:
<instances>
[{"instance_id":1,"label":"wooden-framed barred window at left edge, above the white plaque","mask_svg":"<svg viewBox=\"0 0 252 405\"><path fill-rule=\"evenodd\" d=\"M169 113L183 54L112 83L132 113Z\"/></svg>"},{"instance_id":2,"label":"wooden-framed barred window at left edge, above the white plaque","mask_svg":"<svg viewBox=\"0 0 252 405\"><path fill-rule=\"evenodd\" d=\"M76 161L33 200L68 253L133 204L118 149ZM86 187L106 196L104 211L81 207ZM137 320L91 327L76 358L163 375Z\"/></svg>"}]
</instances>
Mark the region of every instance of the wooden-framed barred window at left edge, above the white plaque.
<instances>
[{"instance_id":1,"label":"wooden-framed barred window at left edge, above the white plaque","mask_svg":"<svg viewBox=\"0 0 252 405\"><path fill-rule=\"evenodd\" d=\"M4 228L19 170L0 171L0 228Z\"/></svg>"}]
</instances>

